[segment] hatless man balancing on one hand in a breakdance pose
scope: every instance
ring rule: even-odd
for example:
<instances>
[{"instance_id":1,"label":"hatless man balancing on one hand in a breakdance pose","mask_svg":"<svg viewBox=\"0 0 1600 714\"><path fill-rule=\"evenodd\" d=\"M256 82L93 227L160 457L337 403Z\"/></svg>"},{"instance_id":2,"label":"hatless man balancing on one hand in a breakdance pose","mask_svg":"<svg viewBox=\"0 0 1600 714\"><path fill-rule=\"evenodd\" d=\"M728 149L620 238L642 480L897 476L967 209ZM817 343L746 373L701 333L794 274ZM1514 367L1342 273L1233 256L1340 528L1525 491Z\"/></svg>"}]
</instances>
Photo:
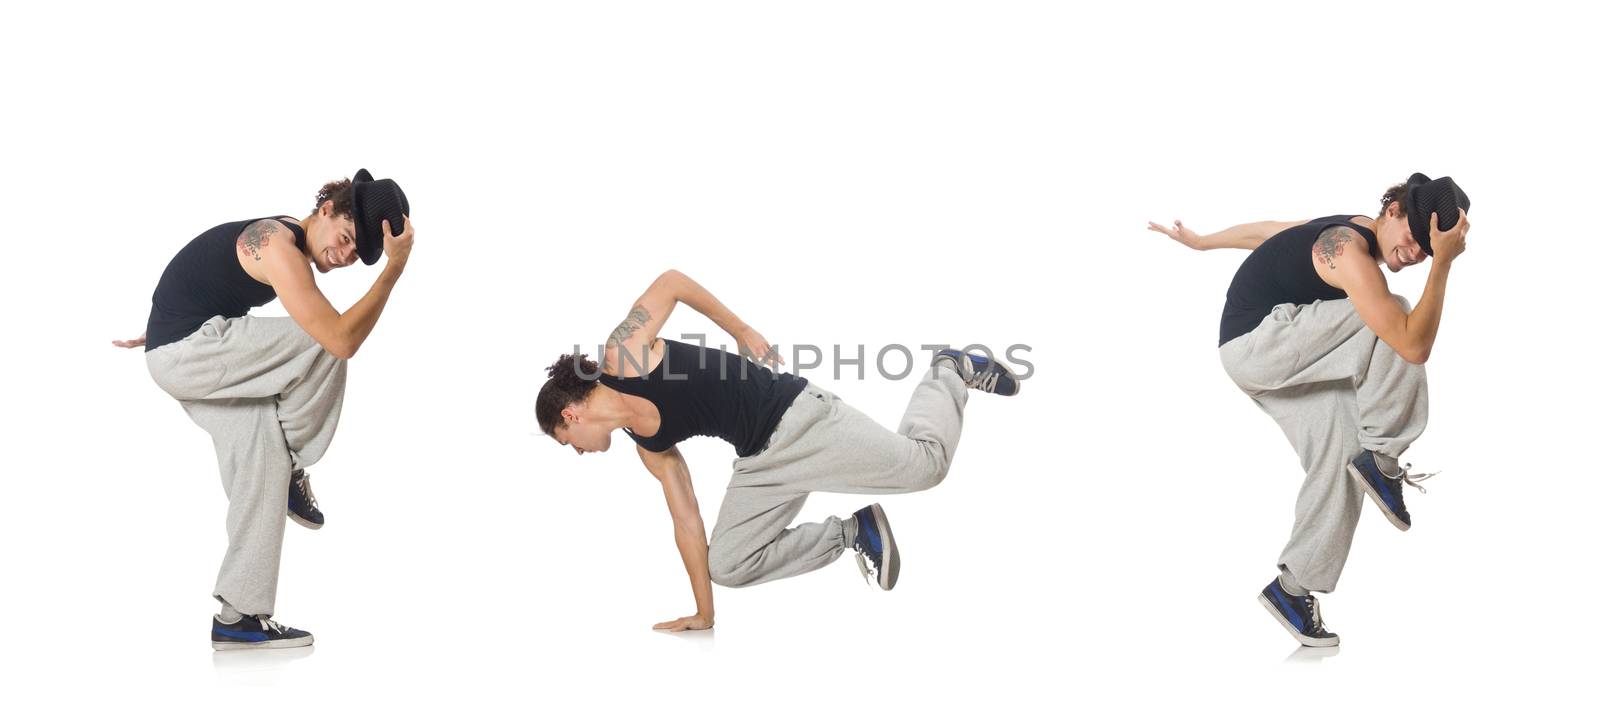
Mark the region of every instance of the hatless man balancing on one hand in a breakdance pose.
<instances>
[{"instance_id":1,"label":"hatless man balancing on one hand in a breakdance pose","mask_svg":"<svg viewBox=\"0 0 1600 714\"><path fill-rule=\"evenodd\" d=\"M667 271L645 290L606 341L602 362L562 355L539 389L539 427L579 455L605 451L611 432L637 443L672 514L694 615L656 629L709 629L712 583L741 588L821 568L854 549L862 575L894 588L901 554L883 507L790 527L806 496L909 493L944 480L962 435L970 389L1013 395L1016 376L987 355L947 349L912 391L898 431L806 379L774 373L720 349L656 335L683 303L734 338L739 351L782 363L758 331L694 280ZM710 541L688 463L677 443L715 435L738 453Z\"/></svg>"}]
</instances>

